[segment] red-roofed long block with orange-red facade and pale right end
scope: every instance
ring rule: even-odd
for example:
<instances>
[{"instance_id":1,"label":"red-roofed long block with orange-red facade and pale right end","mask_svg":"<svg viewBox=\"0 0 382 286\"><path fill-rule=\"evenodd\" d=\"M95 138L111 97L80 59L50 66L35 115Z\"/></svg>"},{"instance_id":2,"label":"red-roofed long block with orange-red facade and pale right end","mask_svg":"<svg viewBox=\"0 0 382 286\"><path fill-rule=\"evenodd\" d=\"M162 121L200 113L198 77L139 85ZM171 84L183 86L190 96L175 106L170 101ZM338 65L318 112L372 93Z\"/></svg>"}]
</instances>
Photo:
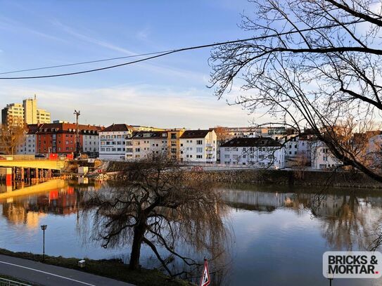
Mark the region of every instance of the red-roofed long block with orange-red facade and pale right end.
<instances>
[{"instance_id":1,"label":"red-roofed long block with orange-red facade and pale right end","mask_svg":"<svg viewBox=\"0 0 382 286\"><path fill-rule=\"evenodd\" d=\"M63 155L75 152L76 128L77 126L74 123L39 124L39 129L36 132L36 153L58 153ZM79 124L78 129L79 143L82 146L82 150L93 153L94 148L98 146L98 133L102 130L102 127ZM84 150L85 143L86 148L89 148L86 151Z\"/></svg>"}]
</instances>

